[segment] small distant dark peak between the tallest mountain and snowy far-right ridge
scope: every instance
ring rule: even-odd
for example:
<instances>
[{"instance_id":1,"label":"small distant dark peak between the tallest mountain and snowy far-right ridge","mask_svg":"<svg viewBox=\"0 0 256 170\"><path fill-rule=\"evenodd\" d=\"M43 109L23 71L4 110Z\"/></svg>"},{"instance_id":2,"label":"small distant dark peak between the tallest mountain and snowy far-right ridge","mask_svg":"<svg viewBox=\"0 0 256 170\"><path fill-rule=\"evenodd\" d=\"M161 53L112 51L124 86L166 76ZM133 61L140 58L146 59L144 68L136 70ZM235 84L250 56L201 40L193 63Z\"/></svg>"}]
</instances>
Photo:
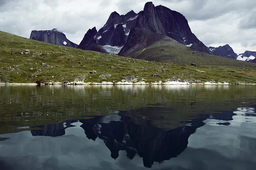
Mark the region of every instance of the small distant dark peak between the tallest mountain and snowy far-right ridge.
<instances>
[{"instance_id":1,"label":"small distant dark peak between the tallest mountain and snowy far-right ridge","mask_svg":"<svg viewBox=\"0 0 256 170\"><path fill-rule=\"evenodd\" d=\"M232 58L236 59L237 54L233 51L233 49L230 47L230 45L226 44L224 46L219 46L219 47L208 47L210 51L216 56L221 56L221 57L227 57L227 58Z\"/></svg>"}]
</instances>

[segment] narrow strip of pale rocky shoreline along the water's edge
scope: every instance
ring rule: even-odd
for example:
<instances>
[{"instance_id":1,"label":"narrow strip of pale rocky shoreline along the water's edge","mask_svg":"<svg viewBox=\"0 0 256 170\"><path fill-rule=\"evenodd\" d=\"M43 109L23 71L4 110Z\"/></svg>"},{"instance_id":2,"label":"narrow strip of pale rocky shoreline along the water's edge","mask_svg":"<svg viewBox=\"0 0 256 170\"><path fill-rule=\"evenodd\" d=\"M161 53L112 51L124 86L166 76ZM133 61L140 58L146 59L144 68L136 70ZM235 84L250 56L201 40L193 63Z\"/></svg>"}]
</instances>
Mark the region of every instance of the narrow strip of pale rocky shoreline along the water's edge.
<instances>
[{"instance_id":1,"label":"narrow strip of pale rocky shoreline along the water's edge","mask_svg":"<svg viewBox=\"0 0 256 170\"><path fill-rule=\"evenodd\" d=\"M231 84L228 82L204 82L204 83L189 83L189 82L45 82L41 84L37 83L1 83L0 85L256 85L255 83L236 83Z\"/></svg>"}]
</instances>

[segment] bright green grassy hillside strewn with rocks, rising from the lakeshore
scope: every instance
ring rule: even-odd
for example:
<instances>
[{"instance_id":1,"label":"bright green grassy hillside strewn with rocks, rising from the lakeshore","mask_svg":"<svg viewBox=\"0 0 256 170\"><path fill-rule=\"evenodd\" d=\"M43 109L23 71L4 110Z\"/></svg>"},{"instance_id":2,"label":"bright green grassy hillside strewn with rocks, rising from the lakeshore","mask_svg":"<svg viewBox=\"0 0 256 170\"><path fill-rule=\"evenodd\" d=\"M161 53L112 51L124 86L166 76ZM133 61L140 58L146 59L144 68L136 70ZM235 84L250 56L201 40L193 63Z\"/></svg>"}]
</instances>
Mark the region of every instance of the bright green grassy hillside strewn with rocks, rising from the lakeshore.
<instances>
[{"instance_id":1,"label":"bright green grassy hillside strewn with rocks, rising from the lakeshore","mask_svg":"<svg viewBox=\"0 0 256 170\"><path fill-rule=\"evenodd\" d=\"M172 51L168 44L169 42L166 42L166 45L164 42L159 42L159 45L165 47L163 50L162 48L158 49L157 44L154 44L148 48L149 51L145 50L141 54L150 53L150 51L151 54L155 51L163 51L167 55L167 50ZM187 51L190 50L188 48ZM186 53L181 51L181 54L182 57L186 57ZM180 63L195 62L198 64L194 60L186 61L182 57L180 57L183 59ZM204 63L203 58L204 56L200 56L201 63ZM206 58L210 58L209 55ZM179 78L203 82L256 83L256 64L225 59L224 57L218 58L223 59L222 64L236 62L241 63L241 65L238 64L237 67L191 66L149 62L76 48L65 48L0 31L0 82L72 82L79 77L83 77L84 82L119 82L126 76L132 75L137 77L138 81L145 82L160 80L164 82L166 79ZM211 60L212 64L208 63L208 65L217 65L214 58ZM90 74L92 70L95 70L96 74ZM102 74L111 74L111 77L99 78ZM157 76L152 77L152 74Z\"/></svg>"}]
</instances>

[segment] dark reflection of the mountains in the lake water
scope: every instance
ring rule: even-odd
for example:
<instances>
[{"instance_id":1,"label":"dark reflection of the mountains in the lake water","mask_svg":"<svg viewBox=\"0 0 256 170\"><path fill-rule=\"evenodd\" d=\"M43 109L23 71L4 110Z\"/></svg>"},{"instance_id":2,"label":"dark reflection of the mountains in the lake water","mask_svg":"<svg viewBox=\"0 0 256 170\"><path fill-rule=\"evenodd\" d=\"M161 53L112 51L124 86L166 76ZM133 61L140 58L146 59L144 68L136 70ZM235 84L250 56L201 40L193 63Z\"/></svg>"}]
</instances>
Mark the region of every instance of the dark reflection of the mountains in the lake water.
<instances>
[{"instance_id":1,"label":"dark reflection of the mountains in the lake water","mask_svg":"<svg viewBox=\"0 0 256 170\"><path fill-rule=\"evenodd\" d=\"M113 159L119 157L120 150L125 150L128 159L133 159L137 154L143 158L145 167L151 167L154 162L169 160L182 153L187 147L189 136L195 133L198 127L204 125L204 120L228 121L233 120L234 115L231 111L201 115L194 117L193 120L181 122L185 124L183 126L166 130L154 126L154 121L135 116L131 111L125 111L118 115L95 116L91 119L41 125L37 126L41 130L31 130L31 133L33 136L63 136L65 129L72 127L70 124L79 121L87 138L93 141L97 138L102 139L111 151ZM229 123L217 124L230 125Z\"/></svg>"}]
</instances>

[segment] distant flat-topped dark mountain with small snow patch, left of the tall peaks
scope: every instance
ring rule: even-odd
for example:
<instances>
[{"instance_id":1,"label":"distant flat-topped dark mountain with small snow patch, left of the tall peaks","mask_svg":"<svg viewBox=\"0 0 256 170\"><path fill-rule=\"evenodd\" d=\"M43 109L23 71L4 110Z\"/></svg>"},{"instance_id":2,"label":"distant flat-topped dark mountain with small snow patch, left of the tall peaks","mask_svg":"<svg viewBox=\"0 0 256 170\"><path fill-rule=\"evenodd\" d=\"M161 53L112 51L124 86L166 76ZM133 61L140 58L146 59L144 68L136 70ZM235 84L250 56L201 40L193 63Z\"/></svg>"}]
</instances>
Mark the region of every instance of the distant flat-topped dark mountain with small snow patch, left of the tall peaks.
<instances>
[{"instance_id":1,"label":"distant flat-topped dark mountain with small snow patch, left of the tall peaks","mask_svg":"<svg viewBox=\"0 0 256 170\"><path fill-rule=\"evenodd\" d=\"M33 30L30 34L30 39L42 42L48 42L53 45L62 45L67 47L77 48L77 44L67 39L66 35L57 31L56 28L46 31Z\"/></svg>"}]
</instances>

